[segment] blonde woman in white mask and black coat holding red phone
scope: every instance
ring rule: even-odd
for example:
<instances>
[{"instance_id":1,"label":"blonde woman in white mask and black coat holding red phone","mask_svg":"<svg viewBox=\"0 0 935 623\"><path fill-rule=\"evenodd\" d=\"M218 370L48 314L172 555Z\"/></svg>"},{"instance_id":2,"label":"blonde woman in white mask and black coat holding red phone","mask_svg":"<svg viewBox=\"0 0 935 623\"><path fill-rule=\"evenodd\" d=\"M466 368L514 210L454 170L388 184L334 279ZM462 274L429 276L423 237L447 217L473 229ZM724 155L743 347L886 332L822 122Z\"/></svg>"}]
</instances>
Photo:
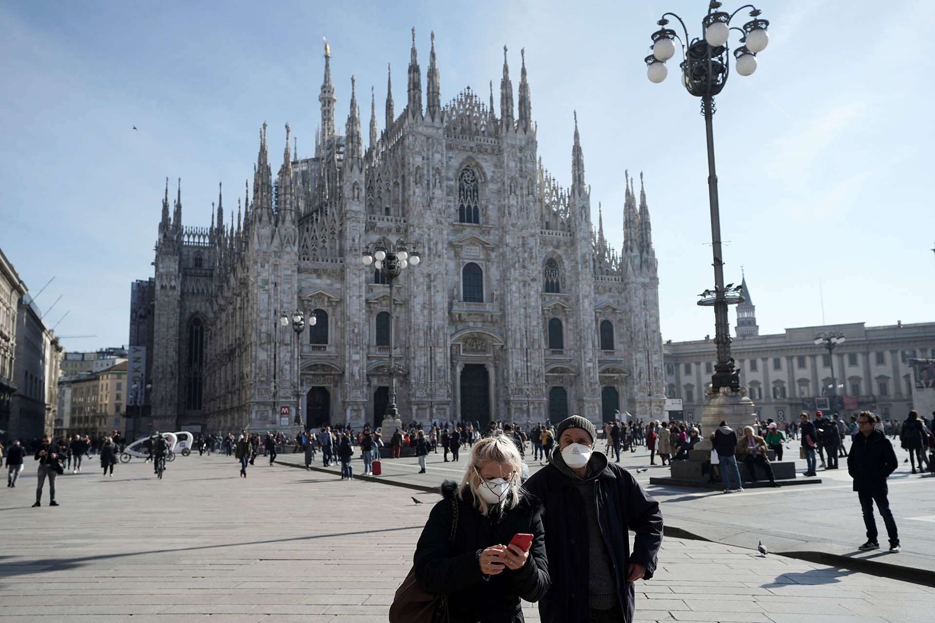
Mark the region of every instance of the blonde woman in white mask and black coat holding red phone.
<instances>
[{"instance_id":1,"label":"blonde woman in white mask and black coat holding red phone","mask_svg":"<svg viewBox=\"0 0 935 623\"><path fill-rule=\"evenodd\" d=\"M441 486L413 570L420 588L447 596L452 623L523 621L520 599L538 602L551 585L541 505L519 488L521 469L509 438L487 437L471 447L461 484ZM532 534L525 551L511 545L516 534Z\"/></svg>"}]
</instances>

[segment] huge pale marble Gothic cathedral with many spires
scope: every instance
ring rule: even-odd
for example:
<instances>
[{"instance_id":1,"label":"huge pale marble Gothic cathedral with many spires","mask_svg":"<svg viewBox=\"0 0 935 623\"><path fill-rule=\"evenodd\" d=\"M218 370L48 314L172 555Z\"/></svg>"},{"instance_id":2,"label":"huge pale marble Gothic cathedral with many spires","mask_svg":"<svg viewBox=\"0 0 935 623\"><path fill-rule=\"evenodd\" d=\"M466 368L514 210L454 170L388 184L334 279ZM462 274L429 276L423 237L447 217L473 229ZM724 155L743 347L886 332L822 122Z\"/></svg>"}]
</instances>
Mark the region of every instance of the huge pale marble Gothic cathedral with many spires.
<instances>
[{"instance_id":1,"label":"huge pale marble Gothic cathedral with many spires","mask_svg":"<svg viewBox=\"0 0 935 623\"><path fill-rule=\"evenodd\" d=\"M353 78L339 134L326 45L313 158L293 158L286 125L274 177L264 124L252 189L229 225L219 191L210 227L183 226L181 190L170 215L166 182L154 426L269 430L292 424L296 409L309 427L379 426L391 342L405 422L662 416L641 176L639 198L627 182L617 252L602 217L592 226L577 119L568 188L537 157L525 58L514 107L504 48L498 114L493 86L489 104L469 88L442 104L434 35L425 82L423 91L413 31L406 104L396 114L388 76L379 130L371 90L365 149ZM396 278L392 302L381 274L361 262L379 240L405 240L422 258ZM295 309L316 318L298 338L280 322Z\"/></svg>"}]
</instances>

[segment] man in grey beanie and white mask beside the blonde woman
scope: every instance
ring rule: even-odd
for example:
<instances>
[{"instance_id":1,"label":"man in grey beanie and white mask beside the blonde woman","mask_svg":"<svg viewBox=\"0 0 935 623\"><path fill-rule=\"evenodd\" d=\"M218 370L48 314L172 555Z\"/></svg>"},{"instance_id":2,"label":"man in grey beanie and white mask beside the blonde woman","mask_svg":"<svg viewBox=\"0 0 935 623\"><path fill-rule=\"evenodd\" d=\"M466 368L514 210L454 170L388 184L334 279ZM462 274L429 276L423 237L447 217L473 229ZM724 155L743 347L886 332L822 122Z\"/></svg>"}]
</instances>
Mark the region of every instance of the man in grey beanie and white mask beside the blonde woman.
<instances>
[{"instance_id":1,"label":"man in grey beanie and white mask beside the blonde woman","mask_svg":"<svg viewBox=\"0 0 935 623\"><path fill-rule=\"evenodd\" d=\"M588 419L565 418L555 437L551 462L524 485L545 506L552 588L539 616L543 623L631 621L633 583L653 577L662 544L659 503L594 449L597 429Z\"/></svg>"}]
</instances>

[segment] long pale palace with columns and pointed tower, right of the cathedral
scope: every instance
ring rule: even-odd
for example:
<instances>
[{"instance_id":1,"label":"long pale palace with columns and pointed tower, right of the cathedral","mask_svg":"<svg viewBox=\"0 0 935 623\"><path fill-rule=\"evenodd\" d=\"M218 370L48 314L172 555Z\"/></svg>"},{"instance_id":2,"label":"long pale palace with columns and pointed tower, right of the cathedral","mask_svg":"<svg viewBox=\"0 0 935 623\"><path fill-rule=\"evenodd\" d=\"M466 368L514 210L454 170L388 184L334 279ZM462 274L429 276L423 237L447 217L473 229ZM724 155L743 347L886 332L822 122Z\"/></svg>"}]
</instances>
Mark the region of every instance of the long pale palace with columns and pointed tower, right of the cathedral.
<instances>
[{"instance_id":1,"label":"long pale palace with columns and pointed tower, right of the cathedral","mask_svg":"<svg viewBox=\"0 0 935 623\"><path fill-rule=\"evenodd\" d=\"M935 322L867 327L863 322L797 327L760 335L744 277L746 301L737 306L731 356L760 418L798 419L815 409L842 417L869 410L884 419L905 419L913 408L915 358L935 356ZM821 332L841 332L844 342L828 352L814 343ZM683 417L701 420L716 348L711 336L667 341L666 395L683 399ZM928 417L928 414L922 414Z\"/></svg>"}]
</instances>

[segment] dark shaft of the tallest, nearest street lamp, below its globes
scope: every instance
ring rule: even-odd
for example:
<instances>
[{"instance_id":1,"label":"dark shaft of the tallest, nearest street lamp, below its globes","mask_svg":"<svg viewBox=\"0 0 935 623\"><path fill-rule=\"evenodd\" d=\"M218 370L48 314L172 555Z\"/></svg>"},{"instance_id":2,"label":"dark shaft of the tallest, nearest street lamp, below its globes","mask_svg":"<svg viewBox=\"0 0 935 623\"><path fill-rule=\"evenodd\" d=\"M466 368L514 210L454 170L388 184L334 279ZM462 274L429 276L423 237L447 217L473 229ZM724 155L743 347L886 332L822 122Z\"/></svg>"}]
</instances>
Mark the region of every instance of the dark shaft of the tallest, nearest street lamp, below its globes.
<instances>
[{"instance_id":1,"label":"dark shaft of the tallest, nearest street lamp, below its globes","mask_svg":"<svg viewBox=\"0 0 935 623\"><path fill-rule=\"evenodd\" d=\"M733 372L730 362L730 326L727 322L727 301L724 290L724 261L721 251L721 215L717 201L717 172L714 167L714 130L712 117L714 99L705 95L701 99L704 110L705 136L708 142L708 203L711 206L711 248L714 264L714 344L717 363L712 375L712 391L730 387Z\"/></svg>"}]
</instances>

